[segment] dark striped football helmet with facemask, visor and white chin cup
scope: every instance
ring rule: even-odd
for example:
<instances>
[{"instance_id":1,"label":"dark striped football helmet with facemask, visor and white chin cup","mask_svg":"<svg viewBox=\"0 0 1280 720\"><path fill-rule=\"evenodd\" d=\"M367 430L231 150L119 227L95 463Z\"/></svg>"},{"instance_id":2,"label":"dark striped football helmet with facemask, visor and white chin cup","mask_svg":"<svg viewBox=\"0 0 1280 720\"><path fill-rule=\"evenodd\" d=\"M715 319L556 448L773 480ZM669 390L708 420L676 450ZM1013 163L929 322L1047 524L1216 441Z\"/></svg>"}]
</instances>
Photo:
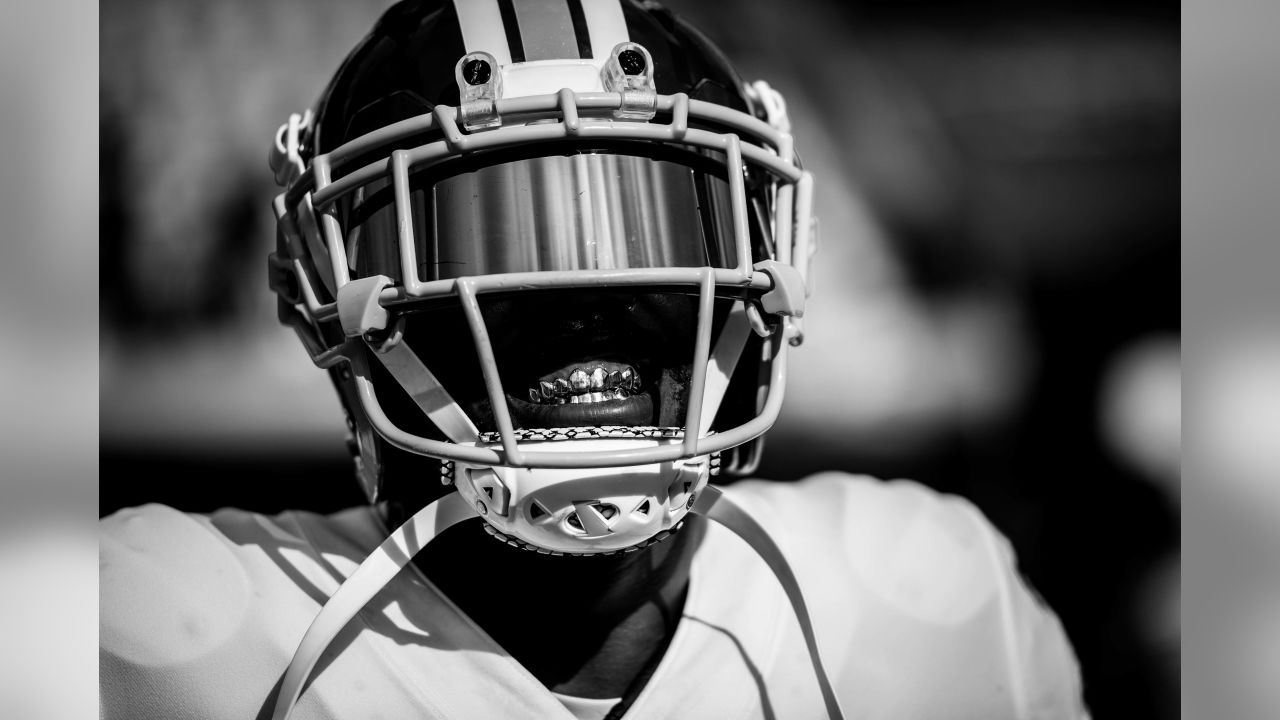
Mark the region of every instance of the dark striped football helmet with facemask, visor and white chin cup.
<instances>
[{"instance_id":1,"label":"dark striped football helmet with facemask, visor and white chin cup","mask_svg":"<svg viewBox=\"0 0 1280 720\"><path fill-rule=\"evenodd\" d=\"M754 468L813 181L782 97L664 9L401 3L271 167L279 315L371 501L443 483L509 544L611 553Z\"/></svg>"}]
</instances>

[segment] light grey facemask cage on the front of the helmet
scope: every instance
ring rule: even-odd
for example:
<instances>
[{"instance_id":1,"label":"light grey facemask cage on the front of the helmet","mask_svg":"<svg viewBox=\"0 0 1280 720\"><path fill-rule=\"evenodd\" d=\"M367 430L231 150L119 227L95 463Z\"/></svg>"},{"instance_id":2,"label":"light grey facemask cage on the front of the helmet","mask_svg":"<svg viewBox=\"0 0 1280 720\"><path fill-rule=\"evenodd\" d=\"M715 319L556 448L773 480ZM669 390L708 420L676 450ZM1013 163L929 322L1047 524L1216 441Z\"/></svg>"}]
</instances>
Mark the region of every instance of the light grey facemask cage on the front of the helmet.
<instances>
[{"instance_id":1,"label":"light grey facemask cage on the front of the helmet","mask_svg":"<svg viewBox=\"0 0 1280 720\"><path fill-rule=\"evenodd\" d=\"M764 90L772 92L767 87ZM753 91L760 92L758 87ZM797 345L800 340L796 320L803 314L805 286L808 284L812 177L796 164L790 133L745 113L710 102L689 100L686 95L678 94L655 99L655 111L669 115L668 124L617 122L612 119L612 113L621 106L621 95L616 92L579 94L567 88L554 95L498 100L495 110L507 124L472 135L463 135L460 129L456 108L439 106L431 114L410 118L374 131L332 152L315 158L310 167L311 172L296 176L288 190L276 197L274 206L282 232L282 249L288 252L288 259L273 255L271 270L273 287L282 295L287 305L292 305L293 316L285 320L293 324L298 334L302 336L303 343L317 365L330 368L344 360L351 364L351 374L360 402L370 421L390 443L422 455L485 465L609 468L708 455L748 442L763 434L773 424L781 409L786 372L786 347L782 342L786 340L791 345ZM598 118L603 122L599 122ZM512 120L531 122L539 119L557 119L559 122L531 126L511 124ZM690 119L723 126L736 132L718 133L690 128ZM781 126L781 123L776 124ZM332 181L334 170L342 169L351 160L367 156L378 147L385 147L430 131L438 131L443 138L413 149L394 150L381 160L355 169L338 181ZM755 140L759 145L741 142L739 133ZM476 150L566 138L641 140L723 152L730 183L737 266L732 269L635 268L530 272L425 282L420 278L410 210L408 178L413 169ZM746 163L767 170L780 183L774 196L776 227L773 228L778 258L758 263L754 266L751 265L744 179ZM332 323L339 315L339 301L321 301L317 293L321 284L316 281L329 281L323 282L323 286L339 297L351 295L351 292L343 291L352 279L347 266L346 242L334 210L335 202L378 179L389 179L394 190L401 283L396 286L390 278L383 278L385 283L374 283L376 287L364 299L364 302L375 314L381 313L385 316L387 309L417 300L458 299L483 365L485 386L500 437L500 450L477 447L458 437L452 438L454 442L442 442L403 432L381 411L374 384L370 380L369 356L374 355L379 342L384 341L366 334L364 340L369 342L367 348L361 347L360 337L348 337L346 342L329 345L323 342L320 333L316 332L321 323ZM300 224L307 225L307 229L314 228L319 237L307 242L303 232L300 232ZM792 225L795 225L794 232ZM328 256L328 268L303 261L308 256L307 245L312 250L324 250L324 255ZM320 260L315 255L317 252L310 254L312 259ZM316 273L325 273L325 270L328 270L329 277L315 277ZM497 360L493 355L488 329L484 325L477 296L485 292L509 291L512 287L532 290L600 286L691 286L698 288L699 318L694 373L685 421L687 432L678 445L662 447L612 452L525 451L515 437L506 405L506 393L498 377ZM708 428L713 418L704 416L703 402L712 355L712 309L718 288L733 296L749 296L751 300L742 302L750 327L762 336L772 333L769 342L765 343L772 382L763 409L755 419L737 428L709 434ZM367 291L369 288L361 290ZM754 304L756 297L765 313L782 319L778 331L771 329L765 319L760 316ZM288 311L282 310L282 313ZM343 320L343 324L347 325L347 322ZM374 329L378 329L376 324ZM352 333L348 332L348 336ZM440 389L443 391L443 388ZM723 388L717 389L723 391ZM713 398L713 405L716 402L718 402L718 397Z\"/></svg>"}]
</instances>

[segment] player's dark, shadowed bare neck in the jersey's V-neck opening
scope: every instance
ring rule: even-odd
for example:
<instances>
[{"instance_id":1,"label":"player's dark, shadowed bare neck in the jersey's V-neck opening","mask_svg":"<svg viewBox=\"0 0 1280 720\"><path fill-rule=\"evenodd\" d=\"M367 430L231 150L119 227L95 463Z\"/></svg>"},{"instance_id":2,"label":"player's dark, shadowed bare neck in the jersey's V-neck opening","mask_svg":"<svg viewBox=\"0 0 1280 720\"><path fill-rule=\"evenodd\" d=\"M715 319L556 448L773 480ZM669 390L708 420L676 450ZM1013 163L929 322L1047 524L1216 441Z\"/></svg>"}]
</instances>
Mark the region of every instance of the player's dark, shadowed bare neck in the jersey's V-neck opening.
<instances>
[{"instance_id":1,"label":"player's dark, shadowed bare neck in the jersey's V-neck opening","mask_svg":"<svg viewBox=\"0 0 1280 720\"><path fill-rule=\"evenodd\" d=\"M644 550L567 557L509 547L468 521L415 562L549 689L613 698L643 683L669 643L701 534L690 515Z\"/></svg>"}]
</instances>

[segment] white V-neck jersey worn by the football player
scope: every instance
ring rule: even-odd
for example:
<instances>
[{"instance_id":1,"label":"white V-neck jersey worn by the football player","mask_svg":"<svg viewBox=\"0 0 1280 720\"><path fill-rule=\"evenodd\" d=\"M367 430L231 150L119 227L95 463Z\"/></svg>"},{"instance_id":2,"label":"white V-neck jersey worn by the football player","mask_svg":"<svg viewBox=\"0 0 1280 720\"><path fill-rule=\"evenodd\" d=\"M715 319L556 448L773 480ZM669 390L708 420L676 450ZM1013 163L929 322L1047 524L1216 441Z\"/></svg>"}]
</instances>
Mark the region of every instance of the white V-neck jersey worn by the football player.
<instances>
[{"instance_id":1,"label":"white V-neck jersey worn by the football player","mask_svg":"<svg viewBox=\"0 0 1280 720\"><path fill-rule=\"evenodd\" d=\"M969 502L844 474L726 492L791 561L850 719L1085 717L1061 625ZM708 525L684 616L625 719L826 717L777 579ZM268 717L311 619L387 534L371 507L106 518L102 717ZM410 565L329 646L293 717L573 714Z\"/></svg>"}]
</instances>

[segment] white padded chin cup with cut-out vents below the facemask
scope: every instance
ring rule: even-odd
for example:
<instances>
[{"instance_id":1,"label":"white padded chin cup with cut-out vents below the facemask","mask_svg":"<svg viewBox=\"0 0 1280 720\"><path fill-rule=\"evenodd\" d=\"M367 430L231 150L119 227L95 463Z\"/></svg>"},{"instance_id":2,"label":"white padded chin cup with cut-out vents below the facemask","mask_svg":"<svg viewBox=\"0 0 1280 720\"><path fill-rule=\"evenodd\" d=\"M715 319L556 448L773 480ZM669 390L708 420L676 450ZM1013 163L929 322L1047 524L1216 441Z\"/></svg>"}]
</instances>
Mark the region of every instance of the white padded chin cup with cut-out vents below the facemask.
<instances>
[{"instance_id":1,"label":"white padded chin cup with cut-out vents below the facemask","mask_svg":"<svg viewBox=\"0 0 1280 720\"><path fill-rule=\"evenodd\" d=\"M680 438L521 442L572 452L622 451ZM707 484L707 456L623 468L502 468L456 462L453 484L498 532L535 548L572 555L635 547L685 518Z\"/></svg>"}]
</instances>

